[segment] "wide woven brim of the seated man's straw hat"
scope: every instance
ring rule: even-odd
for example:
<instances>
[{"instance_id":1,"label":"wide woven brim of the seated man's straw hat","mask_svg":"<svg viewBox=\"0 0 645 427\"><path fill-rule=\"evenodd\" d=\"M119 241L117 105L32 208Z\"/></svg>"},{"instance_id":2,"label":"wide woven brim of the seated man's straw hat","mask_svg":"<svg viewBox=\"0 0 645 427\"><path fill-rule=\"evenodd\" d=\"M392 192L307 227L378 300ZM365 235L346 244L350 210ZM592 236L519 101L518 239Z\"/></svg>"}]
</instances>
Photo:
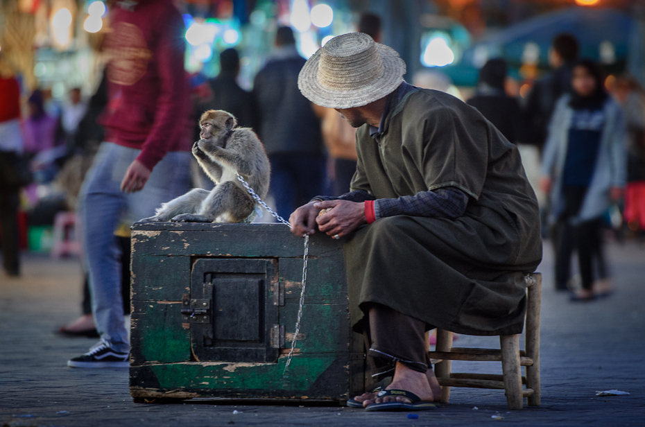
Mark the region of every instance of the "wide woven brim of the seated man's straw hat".
<instances>
[{"instance_id":1,"label":"wide woven brim of the seated man's straw hat","mask_svg":"<svg viewBox=\"0 0 645 427\"><path fill-rule=\"evenodd\" d=\"M379 43L375 45L383 60L383 73L369 85L343 90L323 86L318 78L322 49L318 49L300 70L298 75L300 92L316 105L340 109L362 107L392 93L403 82L406 71L405 62L389 46Z\"/></svg>"}]
</instances>

